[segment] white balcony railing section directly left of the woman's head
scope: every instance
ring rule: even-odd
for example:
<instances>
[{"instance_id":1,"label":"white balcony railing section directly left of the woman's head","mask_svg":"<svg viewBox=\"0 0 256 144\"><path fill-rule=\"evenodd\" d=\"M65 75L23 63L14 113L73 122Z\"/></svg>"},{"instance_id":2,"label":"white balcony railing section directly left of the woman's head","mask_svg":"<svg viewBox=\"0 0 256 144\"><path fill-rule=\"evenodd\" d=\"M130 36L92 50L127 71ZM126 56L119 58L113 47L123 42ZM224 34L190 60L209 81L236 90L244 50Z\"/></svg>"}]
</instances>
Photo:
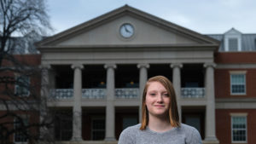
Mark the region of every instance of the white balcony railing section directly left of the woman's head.
<instances>
[{"instance_id":1,"label":"white balcony railing section directly left of the woman's head","mask_svg":"<svg viewBox=\"0 0 256 144\"><path fill-rule=\"evenodd\" d=\"M133 88L115 89L116 98L133 99L139 97L140 90Z\"/></svg>"}]
</instances>

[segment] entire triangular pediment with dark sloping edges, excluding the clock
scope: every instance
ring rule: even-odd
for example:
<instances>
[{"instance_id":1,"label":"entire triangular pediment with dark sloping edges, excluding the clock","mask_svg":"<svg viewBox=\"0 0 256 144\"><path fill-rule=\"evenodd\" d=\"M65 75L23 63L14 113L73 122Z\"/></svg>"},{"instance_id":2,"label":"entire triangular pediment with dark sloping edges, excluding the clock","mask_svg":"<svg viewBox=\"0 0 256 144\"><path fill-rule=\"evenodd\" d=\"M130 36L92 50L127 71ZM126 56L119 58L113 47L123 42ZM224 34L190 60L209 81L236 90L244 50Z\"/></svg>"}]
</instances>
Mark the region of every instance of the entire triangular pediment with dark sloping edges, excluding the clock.
<instances>
[{"instance_id":1,"label":"entire triangular pediment with dark sloping edges, excluding the clock","mask_svg":"<svg viewBox=\"0 0 256 144\"><path fill-rule=\"evenodd\" d=\"M122 37L120 27L131 24L134 33L131 37ZM154 15L125 5L96 19L84 22L65 32L48 37L37 43L44 47L111 47L145 45L218 45L218 41L200 33L177 26Z\"/></svg>"}]
</instances>

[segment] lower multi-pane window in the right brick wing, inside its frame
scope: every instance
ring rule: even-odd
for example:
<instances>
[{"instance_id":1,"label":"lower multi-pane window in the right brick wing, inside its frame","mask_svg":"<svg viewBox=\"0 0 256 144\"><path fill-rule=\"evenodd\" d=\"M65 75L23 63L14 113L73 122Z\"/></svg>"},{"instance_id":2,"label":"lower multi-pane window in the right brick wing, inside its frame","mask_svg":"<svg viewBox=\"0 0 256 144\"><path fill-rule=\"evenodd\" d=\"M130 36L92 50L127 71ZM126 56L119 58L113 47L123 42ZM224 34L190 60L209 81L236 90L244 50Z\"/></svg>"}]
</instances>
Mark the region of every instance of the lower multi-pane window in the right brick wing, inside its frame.
<instances>
[{"instance_id":1,"label":"lower multi-pane window in the right brick wing, inside its frame","mask_svg":"<svg viewBox=\"0 0 256 144\"><path fill-rule=\"evenodd\" d=\"M232 116L232 141L245 142L247 141L247 117Z\"/></svg>"}]
</instances>

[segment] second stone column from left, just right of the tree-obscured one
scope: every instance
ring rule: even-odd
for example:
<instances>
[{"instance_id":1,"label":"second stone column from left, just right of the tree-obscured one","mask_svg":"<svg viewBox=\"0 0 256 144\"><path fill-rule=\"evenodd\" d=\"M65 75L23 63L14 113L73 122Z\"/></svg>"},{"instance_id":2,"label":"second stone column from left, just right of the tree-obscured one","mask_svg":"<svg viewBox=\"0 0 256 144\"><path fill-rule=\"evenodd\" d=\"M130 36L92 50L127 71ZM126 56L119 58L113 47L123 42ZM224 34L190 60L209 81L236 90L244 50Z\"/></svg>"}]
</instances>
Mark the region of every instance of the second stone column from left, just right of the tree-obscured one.
<instances>
[{"instance_id":1,"label":"second stone column from left, just right of the tree-obscured one","mask_svg":"<svg viewBox=\"0 0 256 144\"><path fill-rule=\"evenodd\" d=\"M73 72L73 137L72 141L82 141L82 69L81 64L71 66Z\"/></svg>"}]
</instances>

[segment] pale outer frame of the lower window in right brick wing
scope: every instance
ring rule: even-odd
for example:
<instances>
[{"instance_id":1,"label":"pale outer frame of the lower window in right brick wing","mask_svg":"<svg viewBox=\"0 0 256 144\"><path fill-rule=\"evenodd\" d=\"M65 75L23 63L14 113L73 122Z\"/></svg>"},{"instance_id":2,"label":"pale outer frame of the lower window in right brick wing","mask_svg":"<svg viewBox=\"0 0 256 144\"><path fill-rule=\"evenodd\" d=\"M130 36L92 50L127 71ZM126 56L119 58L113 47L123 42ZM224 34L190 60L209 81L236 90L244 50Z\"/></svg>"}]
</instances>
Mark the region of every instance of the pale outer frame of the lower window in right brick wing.
<instances>
[{"instance_id":1,"label":"pale outer frame of the lower window in right brick wing","mask_svg":"<svg viewBox=\"0 0 256 144\"><path fill-rule=\"evenodd\" d=\"M231 143L247 143L247 113L230 113L230 121L231 121ZM245 136L246 140L245 141L233 141L233 118L245 118L246 123L245 123Z\"/></svg>"}]
</instances>

